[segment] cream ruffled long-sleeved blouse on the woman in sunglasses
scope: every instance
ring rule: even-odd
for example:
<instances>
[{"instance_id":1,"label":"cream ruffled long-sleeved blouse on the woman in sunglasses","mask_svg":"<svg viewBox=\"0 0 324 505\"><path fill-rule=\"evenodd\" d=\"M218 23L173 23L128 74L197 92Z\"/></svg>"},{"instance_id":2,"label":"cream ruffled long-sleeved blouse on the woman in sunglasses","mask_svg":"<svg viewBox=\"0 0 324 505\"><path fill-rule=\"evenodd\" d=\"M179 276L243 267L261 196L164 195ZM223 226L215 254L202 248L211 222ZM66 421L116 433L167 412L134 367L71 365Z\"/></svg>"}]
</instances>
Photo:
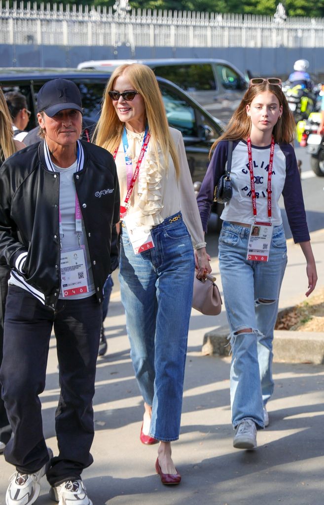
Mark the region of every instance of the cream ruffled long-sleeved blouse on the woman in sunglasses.
<instances>
[{"instance_id":1,"label":"cream ruffled long-sleeved blouse on the woman in sunglasses","mask_svg":"<svg viewBox=\"0 0 324 505\"><path fill-rule=\"evenodd\" d=\"M128 139L127 155L132 159L134 174L143 144L144 132L134 133L129 130L126 130L126 132ZM181 211L194 247L204 247L204 235L183 138L181 132L174 128L170 128L170 132L179 158L180 176L178 180L176 179L175 167L171 156L169 156L169 169L165 171L159 169L155 153L150 148L151 144L149 142L129 200L130 208L128 209L128 213L135 217L138 226L150 229L163 222L169 216ZM158 154L160 164L163 166L161 151L158 151ZM123 142L120 143L115 161L120 185L121 206L124 206L130 181L127 182ZM131 179L132 177L129 178Z\"/></svg>"}]
</instances>

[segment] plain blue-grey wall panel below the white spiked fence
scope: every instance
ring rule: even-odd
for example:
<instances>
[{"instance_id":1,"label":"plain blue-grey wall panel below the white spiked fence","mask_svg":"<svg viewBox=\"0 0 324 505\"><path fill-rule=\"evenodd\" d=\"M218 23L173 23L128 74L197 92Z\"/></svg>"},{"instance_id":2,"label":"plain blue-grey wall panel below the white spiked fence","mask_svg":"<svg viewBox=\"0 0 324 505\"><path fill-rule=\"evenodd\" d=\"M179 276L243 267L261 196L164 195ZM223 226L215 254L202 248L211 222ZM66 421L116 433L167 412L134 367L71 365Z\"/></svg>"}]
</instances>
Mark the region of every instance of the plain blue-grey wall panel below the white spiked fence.
<instances>
[{"instance_id":1,"label":"plain blue-grey wall panel below the white spiked fence","mask_svg":"<svg viewBox=\"0 0 324 505\"><path fill-rule=\"evenodd\" d=\"M309 61L310 73L324 76L324 47L136 47L0 44L0 67L75 68L86 60L221 58L253 75L288 76L295 60Z\"/></svg>"}]
</instances>

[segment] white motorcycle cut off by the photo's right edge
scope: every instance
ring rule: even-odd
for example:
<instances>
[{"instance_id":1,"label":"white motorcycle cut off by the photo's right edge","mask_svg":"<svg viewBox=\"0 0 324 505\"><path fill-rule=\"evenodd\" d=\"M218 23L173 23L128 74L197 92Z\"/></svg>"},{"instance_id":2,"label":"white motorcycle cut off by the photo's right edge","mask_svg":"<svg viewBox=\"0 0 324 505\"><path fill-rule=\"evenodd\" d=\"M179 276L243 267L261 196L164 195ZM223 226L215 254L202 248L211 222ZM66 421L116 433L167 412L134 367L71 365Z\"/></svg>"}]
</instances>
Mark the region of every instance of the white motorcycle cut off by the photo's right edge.
<instances>
[{"instance_id":1,"label":"white motorcycle cut off by the photo's right edge","mask_svg":"<svg viewBox=\"0 0 324 505\"><path fill-rule=\"evenodd\" d=\"M324 177L324 135L317 133L320 118L319 112L310 114L302 134L302 141L306 141L312 171L318 177Z\"/></svg>"}]
</instances>

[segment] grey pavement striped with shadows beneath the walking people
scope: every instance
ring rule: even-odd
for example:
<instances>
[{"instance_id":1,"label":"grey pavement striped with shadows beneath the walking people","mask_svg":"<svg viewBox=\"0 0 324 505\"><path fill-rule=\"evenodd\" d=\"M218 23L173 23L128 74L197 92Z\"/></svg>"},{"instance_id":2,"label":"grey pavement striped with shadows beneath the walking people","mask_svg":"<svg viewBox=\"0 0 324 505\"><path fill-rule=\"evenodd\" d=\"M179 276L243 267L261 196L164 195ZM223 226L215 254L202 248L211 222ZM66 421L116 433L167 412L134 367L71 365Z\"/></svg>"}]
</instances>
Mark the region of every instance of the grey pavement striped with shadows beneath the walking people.
<instances>
[{"instance_id":1,"label":"grey pavement striped with shadows beneath the walking people","mask_svg":"<svg viewBox=\"0 0 324 505\"><path fill-rule=\"evenodd\" d=\"M212 235L212 234L211 234ZM213 236L208 237L212 267L221 287ZM324 231L311 234L324 286ZM269 426L258 432L254 451L233 448L229 398L230 359L202 356L205 332L226 323L192 310L185 374L182 428L173 457L182 474L179 486L164 486L155 474L157 446L139 441L142 398L134 380L118 281L105 320L109 347L98 359L94 397L94 463L83 472L93 505L322 505L324 480L324 366L274 364L276 383L268 403ZM280 307L304 299L305 262L288 240L288 267ZM54 416L59 399L55 339L50 342L46 389L41 395L47 445L58 453ZM0 503L5 503L14 468L0 456ZM52 503L41 480L39 505ZM70 504L69 504L70 505Z\"/></svg>"}]
</instances>

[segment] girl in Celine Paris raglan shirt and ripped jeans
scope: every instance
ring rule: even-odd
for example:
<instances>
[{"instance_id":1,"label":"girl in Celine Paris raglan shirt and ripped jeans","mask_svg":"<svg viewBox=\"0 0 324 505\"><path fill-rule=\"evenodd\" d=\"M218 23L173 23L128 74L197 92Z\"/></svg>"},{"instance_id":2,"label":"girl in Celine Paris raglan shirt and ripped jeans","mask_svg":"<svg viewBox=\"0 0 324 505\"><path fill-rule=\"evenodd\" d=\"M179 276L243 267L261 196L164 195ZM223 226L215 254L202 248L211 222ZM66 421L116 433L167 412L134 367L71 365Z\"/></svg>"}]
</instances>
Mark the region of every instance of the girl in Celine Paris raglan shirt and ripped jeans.
<instances>
[{"instance_id":1,"label":"girl in Celine Paris raglan shirt and ripped jeans","mask_svg":"<svg viewBox=\"0 0 324 505\"><path fill-rule=\"evenodd\" d=\"M214 187L224 174L232 139L233 196L221 216L219 264L231 330L233 445L241 449L256 447L256 431L268 424L265 406L274 390L272 343L287 264L281 194L294 241L306 259L306 296L317 281L292 145L295 128L281 80L251 79L226 132L211 147L198 195L206 232ZM255 226L258 236L253 234Z\"/></svg>"}]
</instances>

